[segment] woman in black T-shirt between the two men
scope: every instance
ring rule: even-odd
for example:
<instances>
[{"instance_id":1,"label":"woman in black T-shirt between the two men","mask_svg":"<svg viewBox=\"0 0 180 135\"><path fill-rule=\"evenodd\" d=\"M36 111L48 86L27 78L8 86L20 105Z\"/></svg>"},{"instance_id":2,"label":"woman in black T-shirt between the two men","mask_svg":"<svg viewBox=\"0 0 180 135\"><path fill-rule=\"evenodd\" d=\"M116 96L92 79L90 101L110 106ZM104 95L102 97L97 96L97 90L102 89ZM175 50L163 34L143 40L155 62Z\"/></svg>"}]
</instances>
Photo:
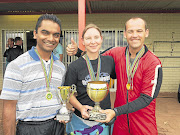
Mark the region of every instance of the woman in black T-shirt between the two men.
<instances>
[{"instance_id":1,"label":"woman in black T-shirt between the two men","mask_svg":"<svg viewBox=\"0 0 180 135\"><path fill-rule=\"evenodd\" d=\"M94 101L87 94L87 84L89 81L95 80L109 83L110 76L112 78L116 77L113 58L99 55L103 42L101 30L94 24L87 25L83 31L82 40L86 48L86 54L68 66L65 78L65 85L75 84L77 86L77 97L72 96L69 99L69 102L76 109L71 122L67 124L67 133L99 124L99 122L88 120L87 110L92 109ZM100 102L100 106L103 109L111 108L110 93ZM104 127L103 135L108 135L109 127L102 126Z\"/></svg>"}]
</instances>

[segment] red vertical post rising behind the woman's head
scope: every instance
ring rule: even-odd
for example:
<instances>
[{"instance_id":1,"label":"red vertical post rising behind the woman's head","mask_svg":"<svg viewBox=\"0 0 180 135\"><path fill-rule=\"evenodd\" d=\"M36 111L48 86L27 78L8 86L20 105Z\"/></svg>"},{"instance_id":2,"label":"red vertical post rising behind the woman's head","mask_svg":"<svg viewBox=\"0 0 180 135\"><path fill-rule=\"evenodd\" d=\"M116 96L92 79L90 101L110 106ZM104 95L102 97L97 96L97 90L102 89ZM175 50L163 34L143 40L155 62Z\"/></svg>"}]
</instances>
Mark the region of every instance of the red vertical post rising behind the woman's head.
<instances>
[{"instance_id":1,"label":"red vertical post rising behind the woman's head","mask_svg":"<svg viewBox=\"0 0 180 135\"><path fill-rule=\"evenodd\" d=\"M86 25L86 0L78 0L78 29L79 29L79 48L85 50L82 44L82 32Z\"/></svg>"}]
</instances>

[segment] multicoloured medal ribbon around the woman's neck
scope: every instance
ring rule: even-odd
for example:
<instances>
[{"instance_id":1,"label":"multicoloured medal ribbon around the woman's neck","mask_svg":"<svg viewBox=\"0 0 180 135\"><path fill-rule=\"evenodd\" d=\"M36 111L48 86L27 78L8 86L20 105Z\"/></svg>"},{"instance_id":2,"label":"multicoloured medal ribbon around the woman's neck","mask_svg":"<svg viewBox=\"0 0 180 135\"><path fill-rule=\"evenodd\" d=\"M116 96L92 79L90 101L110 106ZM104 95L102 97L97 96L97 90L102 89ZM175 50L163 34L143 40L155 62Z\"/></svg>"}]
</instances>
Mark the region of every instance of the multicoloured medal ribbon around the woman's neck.
<instances>
[{"instance_id":1,"label":"multicoloured medal ribbon around the woman's neck","mask_svg":"<svg viewBox=\"0 0 180 135\"><path fill-rule=\"evenodd\" d=\"M89 60L89 57L87 56L87 54L84 55L85 56L85 60L86 60L86 64L88 67L88 71L89 71L89 75L92 81L99 81L99 75L100 75L100 70L101 70L101 58L100 55L98 56L98 67L97 67L97 74L95 77L95 73L91 64L91 61Z\"/></svg>"}]
</instances>

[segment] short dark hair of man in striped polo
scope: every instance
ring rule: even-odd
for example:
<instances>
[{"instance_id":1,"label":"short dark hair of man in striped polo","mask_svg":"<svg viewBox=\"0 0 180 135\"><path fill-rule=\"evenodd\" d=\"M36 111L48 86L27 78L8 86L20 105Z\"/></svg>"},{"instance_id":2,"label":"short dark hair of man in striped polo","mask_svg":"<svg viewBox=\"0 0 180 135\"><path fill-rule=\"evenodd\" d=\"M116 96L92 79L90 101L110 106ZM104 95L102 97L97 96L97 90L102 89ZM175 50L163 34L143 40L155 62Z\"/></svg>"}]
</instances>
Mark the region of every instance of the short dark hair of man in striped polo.
<instances>
[{"instance_id":1,"label":"short dark hair of man in striped polo","mask_svg":"<svg viewBox=\"0 0 180 135\"><path fill-rule=\"evenodd\" d=\"M53 21L55 23L57 23L61 29L61 21L57 18L56 15L53 15L53 14L44 14L44 15L41 15L39 18L38 18L38 21L36 23L36 33L38 31L38 28L41 27L41 22L43 20L50 20L50 21Z\"/></svg>"}]
</instances>

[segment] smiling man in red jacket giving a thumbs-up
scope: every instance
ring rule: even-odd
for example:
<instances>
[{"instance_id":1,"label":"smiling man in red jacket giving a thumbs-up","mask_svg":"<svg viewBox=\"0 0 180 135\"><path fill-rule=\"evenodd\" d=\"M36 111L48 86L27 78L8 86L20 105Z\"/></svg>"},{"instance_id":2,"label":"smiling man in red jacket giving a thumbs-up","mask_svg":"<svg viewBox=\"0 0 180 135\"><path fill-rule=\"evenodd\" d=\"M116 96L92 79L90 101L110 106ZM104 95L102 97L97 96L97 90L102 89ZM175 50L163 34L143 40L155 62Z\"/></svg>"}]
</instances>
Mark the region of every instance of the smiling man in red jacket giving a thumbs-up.
<instances>
[{"instance_id":1,"label":"smiling man in red jacket giving a thumbs-up","mask_svg":"<svg viewBox=\"0 0 180 135\"><path fill-rule=\"evenodd\" d=\"M157 135L155 117L156 97L162 83L160 60L144 45L149 30L144 19L134 17L125 24L124 37L127 47L116 47L104 55L114 58L117 91L114 110L107 114L108 123L117 117L113 135ZM76 53L77 45L69 45L67 53Z\"/></svg>"}]
</instances>

